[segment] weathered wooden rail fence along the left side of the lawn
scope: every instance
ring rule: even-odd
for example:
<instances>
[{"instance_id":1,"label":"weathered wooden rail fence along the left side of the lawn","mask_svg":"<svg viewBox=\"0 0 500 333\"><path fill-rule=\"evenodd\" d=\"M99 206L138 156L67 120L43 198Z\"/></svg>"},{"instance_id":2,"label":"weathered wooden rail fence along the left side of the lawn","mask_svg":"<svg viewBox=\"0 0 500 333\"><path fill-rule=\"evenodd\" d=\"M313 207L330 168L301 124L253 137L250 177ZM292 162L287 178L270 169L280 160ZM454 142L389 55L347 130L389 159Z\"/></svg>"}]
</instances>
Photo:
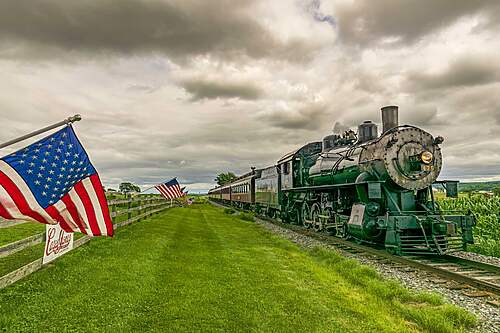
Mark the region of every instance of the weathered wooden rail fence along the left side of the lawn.
<instances>
[{"instance_id":1,"label":"weathered wooden rail fence along the left side of the lawn","mask_svg":"<svg viewBox=\"0 0 500 333\"><path fill-rule=\"evenodd\" d=\"M120 227L140 221L169 208L170 202L167 202L163 197L159 196L140 196L132 199L108 200L108 206L110 208L111 218L113 219L113 228L116 230ZM87 243L91 239L92 237L89 236L83 236L76 239L73 242L73 249ZM45 232L1 246L0 258L7 257L11 254L43 242L45 242ZM43 267L42 259L43 257L40 257L39 259L36 259L35 261L0 277L0 289L5 288L8 285L11 285L12 283L41 269Z\"/></svg>"}]
</instances>

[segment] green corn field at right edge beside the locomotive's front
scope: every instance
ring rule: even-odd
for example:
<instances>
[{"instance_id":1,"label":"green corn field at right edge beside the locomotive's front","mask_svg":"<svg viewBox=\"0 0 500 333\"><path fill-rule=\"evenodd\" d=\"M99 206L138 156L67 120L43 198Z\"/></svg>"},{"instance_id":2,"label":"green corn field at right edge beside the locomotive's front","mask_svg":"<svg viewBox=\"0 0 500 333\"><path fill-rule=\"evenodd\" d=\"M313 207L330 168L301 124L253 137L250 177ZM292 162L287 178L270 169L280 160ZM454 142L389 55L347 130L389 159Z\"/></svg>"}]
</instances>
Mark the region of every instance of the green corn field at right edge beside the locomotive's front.
<instances>
[{"instance_id":1,"label":"green corn field at right edge beside the locomotive's front","mask_svg":"<svg viewBox=\"0 0 500 333\"><path fill-rule=\"evenodd\" d=\"M500 197L480 194L438 199L443 210L470 211L476 217L474 245L469 251L500 257Z\"/></svg>"}]
</instances>

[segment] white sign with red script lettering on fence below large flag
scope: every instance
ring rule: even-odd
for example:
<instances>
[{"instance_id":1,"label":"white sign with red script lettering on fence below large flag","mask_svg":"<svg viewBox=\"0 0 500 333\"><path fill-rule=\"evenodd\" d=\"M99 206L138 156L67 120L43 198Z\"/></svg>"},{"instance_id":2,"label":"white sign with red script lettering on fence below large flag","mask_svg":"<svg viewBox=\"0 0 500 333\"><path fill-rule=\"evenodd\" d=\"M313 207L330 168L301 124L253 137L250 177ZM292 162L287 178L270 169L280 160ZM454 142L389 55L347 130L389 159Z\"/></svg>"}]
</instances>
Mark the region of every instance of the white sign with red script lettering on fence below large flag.
<instances>
[{"instance_id":1,"label":"white sign with red script lettering on fence below large flag","mask_svg":"<svg viewBox=\"0 0 500 333\"><path fill-rule=\"evenodd\" d=\"M45 239L45 250L43 252L44 264L73 249L73 233L67 233L62 230L59 224L47 224Z\"/></svg>"}]
</instances>

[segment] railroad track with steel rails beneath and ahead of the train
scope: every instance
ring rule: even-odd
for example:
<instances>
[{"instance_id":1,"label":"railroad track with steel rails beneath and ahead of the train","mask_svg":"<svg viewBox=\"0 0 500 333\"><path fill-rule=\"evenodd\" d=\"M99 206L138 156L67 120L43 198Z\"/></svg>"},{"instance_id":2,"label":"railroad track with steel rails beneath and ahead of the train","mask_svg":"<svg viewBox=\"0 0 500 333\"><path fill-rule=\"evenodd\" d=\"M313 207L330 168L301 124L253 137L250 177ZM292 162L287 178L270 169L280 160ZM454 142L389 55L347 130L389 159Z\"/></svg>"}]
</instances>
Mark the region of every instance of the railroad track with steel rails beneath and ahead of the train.
<instances>
[{"instance_id":1,"label":"railroad track with steel rails beneath and ahead of the train","mask_svg":"<svg viewBox=\"0 0 500 333\"><path fill-rule=\"evenodd\" d=\"M212 202L213 203L213 202ZM218 206L233 208L219 203ZM463 290L469 297L484 297L487 302L500 307L500 267L478 261L459 258L453 255L445 256L395 256L385 250L369 247L345 239L318 233L298 225L285 224L267 217L257 217L282 228L292 230L333 246L341 251L368 257L369 259L389 263L396 268L409 268L431 273L439 278L432 282L448 289Z\"/></svg>"}]
</instances>

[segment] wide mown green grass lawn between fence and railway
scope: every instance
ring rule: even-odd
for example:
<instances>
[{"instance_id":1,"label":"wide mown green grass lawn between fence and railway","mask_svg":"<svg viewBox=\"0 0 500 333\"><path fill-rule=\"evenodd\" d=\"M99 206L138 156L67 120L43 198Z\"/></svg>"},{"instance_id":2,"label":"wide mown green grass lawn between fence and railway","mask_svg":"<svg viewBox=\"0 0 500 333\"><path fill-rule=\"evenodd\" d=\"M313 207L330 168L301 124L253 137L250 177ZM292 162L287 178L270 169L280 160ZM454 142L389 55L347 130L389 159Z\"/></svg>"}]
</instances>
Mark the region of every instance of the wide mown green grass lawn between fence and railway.
<instances>
[{"instance_id":1,"label":"wide mown green grass lawn between fence and railway","mask_svg":"<svg viewBox=\"0 0 500 333\"><path fill-rule=\"evenodd\" d=\"M0 290L0 331L455 332L475 318L209 205L96 239Z\"/></svg>"}]
</instances>

